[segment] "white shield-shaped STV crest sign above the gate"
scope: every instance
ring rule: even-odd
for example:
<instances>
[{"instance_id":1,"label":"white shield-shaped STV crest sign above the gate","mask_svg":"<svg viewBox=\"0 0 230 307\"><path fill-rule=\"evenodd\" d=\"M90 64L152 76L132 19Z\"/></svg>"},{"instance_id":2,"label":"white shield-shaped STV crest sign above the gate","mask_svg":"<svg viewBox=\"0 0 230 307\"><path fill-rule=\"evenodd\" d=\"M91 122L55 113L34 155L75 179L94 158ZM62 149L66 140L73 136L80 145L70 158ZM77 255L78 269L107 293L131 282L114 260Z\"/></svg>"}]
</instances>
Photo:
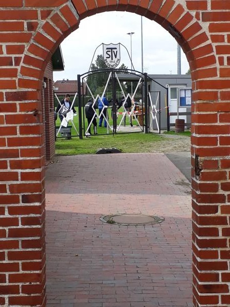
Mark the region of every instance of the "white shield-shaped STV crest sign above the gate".
<instances>
[{"instance_id":1,"label":"white shield-shaped STV crest sign above the gate","mask_svg":"<svg viewBox=\"0 0 230 307\"><path fill-rule=\"evenodd\" d=\"M104 62L108 68L116 68L121 60L120 43L105 45L103 43Z\"/></svg>"}]
</instances>

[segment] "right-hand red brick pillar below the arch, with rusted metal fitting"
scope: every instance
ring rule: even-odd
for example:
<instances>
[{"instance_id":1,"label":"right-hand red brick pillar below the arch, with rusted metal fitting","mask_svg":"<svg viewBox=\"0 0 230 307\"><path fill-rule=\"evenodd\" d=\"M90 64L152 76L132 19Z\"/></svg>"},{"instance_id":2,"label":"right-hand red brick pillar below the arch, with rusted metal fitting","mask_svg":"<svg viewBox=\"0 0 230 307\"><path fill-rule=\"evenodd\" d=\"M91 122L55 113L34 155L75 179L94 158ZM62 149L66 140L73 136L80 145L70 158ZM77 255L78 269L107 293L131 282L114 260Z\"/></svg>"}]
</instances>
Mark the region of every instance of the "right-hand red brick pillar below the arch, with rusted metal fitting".
<instances>
[{"instance_id":1,"label":"right-hand red brick pillar below the arch, with rusted metal fitting","mask_svg":"<svg viewBox=\"0 0 230 307\"><path fill-rule=\"evenodd\" d=\"M229 109L206 101L192 115L194 306L230 303Z\"/></svg>"}]
</instances>

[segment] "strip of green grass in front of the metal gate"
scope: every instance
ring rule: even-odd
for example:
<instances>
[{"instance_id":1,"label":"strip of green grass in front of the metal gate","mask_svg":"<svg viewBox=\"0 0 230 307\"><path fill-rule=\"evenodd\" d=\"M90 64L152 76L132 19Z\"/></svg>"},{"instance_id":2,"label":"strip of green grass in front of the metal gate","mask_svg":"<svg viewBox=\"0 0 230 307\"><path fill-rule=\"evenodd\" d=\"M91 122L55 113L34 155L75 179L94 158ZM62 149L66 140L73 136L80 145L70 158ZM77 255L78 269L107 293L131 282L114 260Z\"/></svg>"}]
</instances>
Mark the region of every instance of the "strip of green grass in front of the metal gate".
<instances>
[{"instance_id":1,"label":"strip of green grass in front of the metal gate","mask_svg":"<svg viewBox=\"0 0 230 307\"><path fill-rule=\"evenodd\" d=\"M122 152L149 152L154 142L160 142L164 137L157 134L131 133L120 135L91 136L72 138L72 140L57 139L56 154L83 155L94 154L99 148L116 147Z\"/></svg>"}]
</instances>

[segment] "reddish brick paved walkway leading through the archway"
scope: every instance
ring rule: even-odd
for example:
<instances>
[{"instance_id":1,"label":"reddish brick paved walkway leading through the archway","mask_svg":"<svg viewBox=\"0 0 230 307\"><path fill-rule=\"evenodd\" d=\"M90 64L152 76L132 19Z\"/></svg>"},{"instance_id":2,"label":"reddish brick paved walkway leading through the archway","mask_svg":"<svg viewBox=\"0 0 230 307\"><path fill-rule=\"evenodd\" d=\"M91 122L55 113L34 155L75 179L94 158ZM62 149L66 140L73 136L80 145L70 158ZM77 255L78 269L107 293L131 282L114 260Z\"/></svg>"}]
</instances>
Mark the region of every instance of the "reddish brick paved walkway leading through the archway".
<instances>
[{"instance_id":1,"label":"reddish brick paved walkway leading through the archway","mask_svg":"<svg viewBox=\"0 0 230 307\"><path fill-rule=\"evenodd\" d=\"M48 307L192 306L191 195L162 153L59 157L47 171ZM162 224L102 223L112 213Z\"/></svg>"}]
</instances>

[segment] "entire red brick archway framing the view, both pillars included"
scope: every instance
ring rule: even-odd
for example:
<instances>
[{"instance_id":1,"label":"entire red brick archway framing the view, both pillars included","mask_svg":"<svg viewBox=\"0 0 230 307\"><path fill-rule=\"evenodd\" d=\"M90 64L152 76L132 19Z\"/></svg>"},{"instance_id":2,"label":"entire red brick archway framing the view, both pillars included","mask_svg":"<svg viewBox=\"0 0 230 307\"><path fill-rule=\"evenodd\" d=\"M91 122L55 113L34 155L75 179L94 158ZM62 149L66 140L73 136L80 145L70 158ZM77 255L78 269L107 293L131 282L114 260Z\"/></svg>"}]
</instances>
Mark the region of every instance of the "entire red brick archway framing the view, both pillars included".
<instances>
[{"instance_id":1,"label":"entire red brick archway framing the view, both pillars included","mask_svg":"<svg viewBox=\"0 0 230 307\"><path fill-rule=\"evenodd\" d=\"M44 69L82 18L126 10L162 25L189 60L195 102L191 139L194 306L229 305L230 3L2 0L1 5L0 304L45 306Z\"/></svg>"}]
</instances>

